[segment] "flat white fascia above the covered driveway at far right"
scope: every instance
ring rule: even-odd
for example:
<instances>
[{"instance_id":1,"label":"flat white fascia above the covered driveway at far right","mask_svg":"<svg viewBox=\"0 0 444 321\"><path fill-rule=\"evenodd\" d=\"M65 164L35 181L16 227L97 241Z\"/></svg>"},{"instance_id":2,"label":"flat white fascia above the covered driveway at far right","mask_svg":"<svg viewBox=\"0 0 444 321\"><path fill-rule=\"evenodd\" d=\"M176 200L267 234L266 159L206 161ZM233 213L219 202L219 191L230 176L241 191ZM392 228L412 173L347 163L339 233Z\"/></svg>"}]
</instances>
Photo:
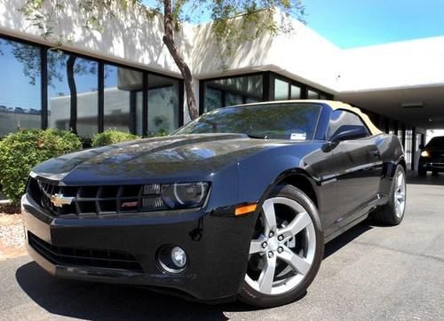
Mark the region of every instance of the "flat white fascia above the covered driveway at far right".
<instances>
[{"instance_id":1,"label":"flat white fascia above the covered driveway at far right","mask_svg":"<svg viewBox=\"0 0 444 321\"><path fill-rule=\"evenodd\" d=\"M337 91L444 84L444 36L342 51Z\"/></svg>"}]
</instances>

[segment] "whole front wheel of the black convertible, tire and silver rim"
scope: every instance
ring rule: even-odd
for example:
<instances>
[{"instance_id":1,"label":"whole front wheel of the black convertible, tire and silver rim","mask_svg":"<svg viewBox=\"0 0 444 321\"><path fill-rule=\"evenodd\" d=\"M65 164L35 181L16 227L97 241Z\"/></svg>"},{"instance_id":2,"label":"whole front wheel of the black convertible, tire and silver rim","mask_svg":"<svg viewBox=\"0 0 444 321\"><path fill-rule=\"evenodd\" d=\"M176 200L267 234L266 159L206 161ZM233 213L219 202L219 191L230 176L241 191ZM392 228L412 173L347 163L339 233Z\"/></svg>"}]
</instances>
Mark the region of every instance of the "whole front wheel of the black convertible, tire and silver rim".
<instances>
[{"instance_id":1,"label":"whole front wheel of the black convertible, tire and silver rim","mask_svg":"<svg viewBox=\"0 0 444 321\"><path fill-rule=\"evenodd\" d=\"M292 185L277 186L258 216L240 300L261 308L297 300L316 276L323 249L312 200Z\"/></svg>"}]
</instances>

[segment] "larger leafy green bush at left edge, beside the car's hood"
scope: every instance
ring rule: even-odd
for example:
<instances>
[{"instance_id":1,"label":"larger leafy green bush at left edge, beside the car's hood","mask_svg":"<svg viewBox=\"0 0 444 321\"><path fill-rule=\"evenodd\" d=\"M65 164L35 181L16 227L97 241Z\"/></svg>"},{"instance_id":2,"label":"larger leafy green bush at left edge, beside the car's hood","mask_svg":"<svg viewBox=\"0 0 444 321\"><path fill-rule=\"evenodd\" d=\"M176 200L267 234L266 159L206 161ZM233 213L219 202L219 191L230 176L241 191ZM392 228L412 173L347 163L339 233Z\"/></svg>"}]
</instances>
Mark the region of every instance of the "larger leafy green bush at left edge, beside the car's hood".
<instances>
[{"instance_id":1,"label":"larger leafy green bush at left edge, beside the car's hood","mask_svg":"<svg viewBox=\"0 0 444 321\"><path fill-rule=\"evenodd\" d=\"M4 194L18 205L29 172L38 163L82 148L74 133L56 129L27 129L0 141L0 183Z\"/></svg>"}]
</instances>

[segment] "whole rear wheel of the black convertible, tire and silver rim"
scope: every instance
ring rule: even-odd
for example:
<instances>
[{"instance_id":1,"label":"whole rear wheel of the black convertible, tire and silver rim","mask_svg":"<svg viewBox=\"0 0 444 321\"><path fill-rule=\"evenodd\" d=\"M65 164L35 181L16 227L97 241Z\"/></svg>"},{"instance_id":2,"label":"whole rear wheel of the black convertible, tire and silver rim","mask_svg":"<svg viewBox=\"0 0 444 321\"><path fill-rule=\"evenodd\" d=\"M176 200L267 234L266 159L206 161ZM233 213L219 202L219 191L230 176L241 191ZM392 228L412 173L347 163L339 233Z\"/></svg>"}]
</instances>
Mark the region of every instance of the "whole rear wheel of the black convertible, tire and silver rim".
<instances>
[{"instance_id":1,"label":"whole rear wheel of the black convertible, tire and silver rim","mask_svg":"<svg viewBox=\"0 0 444 321\"><path fill-rule=\"evenodd\" d=\"M387 204L377 208L372 218L378 223L398 225L406 210L406 172L400 165L396 168Z\"/></svg>"}]
</instances>

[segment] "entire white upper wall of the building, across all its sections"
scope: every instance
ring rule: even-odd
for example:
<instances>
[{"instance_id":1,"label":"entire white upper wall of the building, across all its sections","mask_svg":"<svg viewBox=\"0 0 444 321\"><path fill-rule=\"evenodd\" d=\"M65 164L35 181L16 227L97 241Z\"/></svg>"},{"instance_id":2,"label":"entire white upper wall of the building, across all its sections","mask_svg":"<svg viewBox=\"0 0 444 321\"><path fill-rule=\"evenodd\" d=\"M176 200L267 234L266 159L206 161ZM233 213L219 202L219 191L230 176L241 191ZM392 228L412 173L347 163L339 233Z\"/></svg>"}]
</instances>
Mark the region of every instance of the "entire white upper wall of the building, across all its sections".
<instances>
[{"instance_id":1,"label":"entire white upper wall of the building, across all its sections","mask_svg":"<svg viewBox=\"0 0 444 321\"><path fill-rule=\"evenodd\" d=\"M0 31L45 43L40 32L17 11L24 1L0 0ZM180 76L163 45L161 20L146 21L137 13L125 13L108 20L100 34L82 27L85 21L73 9L75 0L68 1L59 20L61 33L73 38L72 43L66 43L67 50ZM281 20L280 13L275 19ZM272 70L333 94L444 84L444 36L341 50L297 20L291 24L293 31L288 35L263 35L242 43L226 59L226 73L221 69L210 24L185 24L177 42L196 79ZM197 87L194 85L196 96Z\"/></svg>"}]
</instances>

